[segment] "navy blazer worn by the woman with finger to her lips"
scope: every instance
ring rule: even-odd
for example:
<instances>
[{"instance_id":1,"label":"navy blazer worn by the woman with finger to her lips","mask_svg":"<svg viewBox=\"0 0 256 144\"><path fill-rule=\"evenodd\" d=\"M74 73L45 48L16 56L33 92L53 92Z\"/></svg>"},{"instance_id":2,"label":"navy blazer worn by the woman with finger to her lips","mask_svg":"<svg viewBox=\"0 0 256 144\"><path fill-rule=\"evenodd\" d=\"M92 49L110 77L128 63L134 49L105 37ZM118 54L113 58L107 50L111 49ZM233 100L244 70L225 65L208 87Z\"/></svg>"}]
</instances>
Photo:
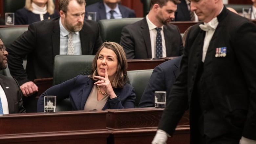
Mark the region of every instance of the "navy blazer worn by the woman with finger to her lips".
<instances>
[{"instance_id":1,"label":"navy blazer worn by the woman with finger to her lips","mask_svg":"<svg viewBox=\"0 0 256 144\"><path fill-rule=\"evenodd\" d=\"M44 111L45 95L56 95L57 101L70 98L73 111L84 110L84 105L93 86L94 81L88 75L78 75L73 79L55 85L39 97L37 112ZM113 88L113 90L118 95L117 98L110 99L109 97L102 110L134 108L136 96L134 88L131 85L126 83L123 88Z\"/></svg>"}]
</instances>

